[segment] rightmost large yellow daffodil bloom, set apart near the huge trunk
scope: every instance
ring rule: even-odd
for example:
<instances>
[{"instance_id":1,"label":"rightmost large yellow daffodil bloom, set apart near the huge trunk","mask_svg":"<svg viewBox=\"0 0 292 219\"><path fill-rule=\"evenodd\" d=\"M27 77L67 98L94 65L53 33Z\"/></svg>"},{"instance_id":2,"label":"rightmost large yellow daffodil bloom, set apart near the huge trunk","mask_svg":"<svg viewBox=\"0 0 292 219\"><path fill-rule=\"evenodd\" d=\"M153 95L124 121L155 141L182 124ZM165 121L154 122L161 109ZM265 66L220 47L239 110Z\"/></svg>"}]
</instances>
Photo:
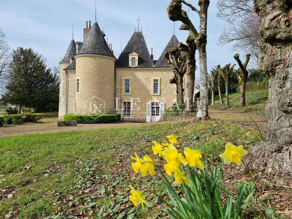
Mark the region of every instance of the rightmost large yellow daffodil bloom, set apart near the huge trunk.
<instances>
[{"instance_id":1,"label":"rightmost large yellow daffodil bloom, set apart near the huge trunk","mask_svg":"<svg viewBox=\"0 0 292 219\"><path fill-rule=\"evenodd\" d=\"M240 165L242 163L242 157L246 154L247 150L244 150L242 145L236 147L231 143L227 143L225 145L224 153L219 156L224 160L225 164L230 164L231 162L234 162Z\"/></svg>"}]
</instances>

